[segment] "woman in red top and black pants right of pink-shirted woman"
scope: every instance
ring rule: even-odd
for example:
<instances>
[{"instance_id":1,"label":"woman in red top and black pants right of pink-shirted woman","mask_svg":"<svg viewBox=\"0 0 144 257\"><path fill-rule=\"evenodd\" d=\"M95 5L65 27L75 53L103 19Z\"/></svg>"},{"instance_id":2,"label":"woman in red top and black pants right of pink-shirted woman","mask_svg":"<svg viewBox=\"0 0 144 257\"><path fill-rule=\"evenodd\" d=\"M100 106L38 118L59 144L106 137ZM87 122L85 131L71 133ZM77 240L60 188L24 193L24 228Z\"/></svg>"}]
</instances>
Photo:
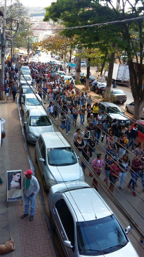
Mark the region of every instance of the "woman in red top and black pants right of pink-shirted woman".
<instances>
[{"instance_id":1,"label":"woman in red top and black pants right of pink-shirted woman","mask_svg":"<svg viewBox=\"0 0 144 257\"><path fill-rule=\"evenodd\" d=\"M113 193L115 182L119 179L119 159L118 157L113 158L114 163L111 164L110 173L109 173L109 180L110 180L110 187L109 190Z\"/></svg>"}]
</instances>

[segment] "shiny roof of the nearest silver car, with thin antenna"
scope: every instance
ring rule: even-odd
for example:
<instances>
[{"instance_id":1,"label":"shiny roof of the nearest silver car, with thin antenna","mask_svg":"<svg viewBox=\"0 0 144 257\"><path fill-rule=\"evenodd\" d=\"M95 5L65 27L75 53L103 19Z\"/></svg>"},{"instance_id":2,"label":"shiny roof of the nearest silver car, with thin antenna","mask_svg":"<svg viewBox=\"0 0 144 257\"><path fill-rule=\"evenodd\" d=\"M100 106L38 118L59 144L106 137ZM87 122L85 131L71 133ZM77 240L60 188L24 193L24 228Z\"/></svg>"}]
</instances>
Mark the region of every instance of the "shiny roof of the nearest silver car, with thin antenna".
<instances>
[{"instance_id":1,"label":"shiny roof of the nearest silver car, with thin antenna","mask_svg":"<svg viewBox=\"0 0 144 257\"><path fill-rule=\"evenodd\" d=\"M101 219L112 214L105 201L92 187L64 193L79 222Z\"/></svg>"}]
</instances>

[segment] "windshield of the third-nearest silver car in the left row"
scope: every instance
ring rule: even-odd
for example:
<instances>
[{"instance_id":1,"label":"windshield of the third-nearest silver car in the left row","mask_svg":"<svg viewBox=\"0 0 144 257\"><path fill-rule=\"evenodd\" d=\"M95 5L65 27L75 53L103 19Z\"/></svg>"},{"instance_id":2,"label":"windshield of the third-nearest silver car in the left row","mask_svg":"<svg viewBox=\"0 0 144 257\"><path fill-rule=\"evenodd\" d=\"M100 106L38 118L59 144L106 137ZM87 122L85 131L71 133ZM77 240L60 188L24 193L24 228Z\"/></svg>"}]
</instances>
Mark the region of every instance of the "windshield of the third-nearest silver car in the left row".
<instances>
[{"instance_id":1,"label":"windshield of the third-nearest silver car in the left row","mask_svg":"<svg viewBox=\"0 0 144 257\"><path fill-rule=\"evenodd\" d=\"M40 127L40 126L50 126L51 122L48 116L30 116L29 126Z\"/></svg>"}]
</instances>

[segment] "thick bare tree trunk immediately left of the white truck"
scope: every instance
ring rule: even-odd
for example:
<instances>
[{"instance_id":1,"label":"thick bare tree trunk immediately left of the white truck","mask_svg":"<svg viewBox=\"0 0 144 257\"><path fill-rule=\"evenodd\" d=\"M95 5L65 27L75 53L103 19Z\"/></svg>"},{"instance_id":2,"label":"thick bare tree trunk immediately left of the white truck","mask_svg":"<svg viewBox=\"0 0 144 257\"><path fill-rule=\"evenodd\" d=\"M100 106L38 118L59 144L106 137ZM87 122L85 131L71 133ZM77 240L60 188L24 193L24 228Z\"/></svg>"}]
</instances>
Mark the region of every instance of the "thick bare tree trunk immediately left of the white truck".
<instances>
[{"instance_id":1,"label":"thick bare tree trunk immediately left of the white truck","mask_svg":"<svg viewBox=\"0 0 144 257\"><path fill-rule=\"evenodd\" d=\"M115 43L112 43L112 47L115 47ZM108 65L108 78L107 78L107 86L105 90L104 102L110 102L111 96L111 81L112 81L112 73L114 68L114 60L115 60L115 52L112 52L110 55L110 62Z\"/></svg>"}]
</instances>

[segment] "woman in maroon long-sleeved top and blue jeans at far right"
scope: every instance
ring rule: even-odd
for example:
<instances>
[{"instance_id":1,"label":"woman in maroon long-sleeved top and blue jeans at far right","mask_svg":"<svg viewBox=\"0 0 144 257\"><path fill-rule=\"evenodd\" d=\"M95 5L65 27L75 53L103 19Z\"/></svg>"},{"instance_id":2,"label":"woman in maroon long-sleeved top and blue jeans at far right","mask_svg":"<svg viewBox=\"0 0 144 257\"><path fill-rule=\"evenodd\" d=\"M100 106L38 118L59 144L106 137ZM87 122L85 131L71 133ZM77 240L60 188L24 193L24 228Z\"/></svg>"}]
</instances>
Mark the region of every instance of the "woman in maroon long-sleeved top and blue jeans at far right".
<instances>
[{"instance_id":1,"label":"woman in maroon long-sleeved top and blue jeans at far right","mask_svg":"<svg viewBox=\"0 0 144 257\"><path fill-rule=\"evenodd\" d=\"M135 193L135 184L136 184L136 180L139 177L139 173L141 172L142 169L142 161L140 160L140 155L137 154L135 158L133 158L132 160L132 170L131 170L131 179L129 181L128 187L132 188L133 192L133 196L136 196ZM131 186L132 183L132 186Z\"/></svg>"}]
</instances>

